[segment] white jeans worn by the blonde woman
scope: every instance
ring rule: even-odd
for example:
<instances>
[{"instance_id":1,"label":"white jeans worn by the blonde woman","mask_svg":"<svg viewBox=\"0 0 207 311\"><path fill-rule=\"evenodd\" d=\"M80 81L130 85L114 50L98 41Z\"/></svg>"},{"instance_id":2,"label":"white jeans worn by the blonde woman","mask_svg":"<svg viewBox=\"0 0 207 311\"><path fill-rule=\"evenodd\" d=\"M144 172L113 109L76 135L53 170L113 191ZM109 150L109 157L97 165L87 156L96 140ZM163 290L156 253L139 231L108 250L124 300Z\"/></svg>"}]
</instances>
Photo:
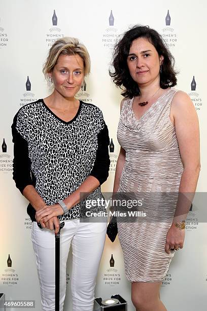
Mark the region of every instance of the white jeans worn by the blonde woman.
<instances>
[{"instance_id":1,"label":"white jeans worn by the blonde woman","mask_svg":"<svg viewBox=\"0 0 207 311\"><path fill-rule=\"evenodd\" d=\"M66 290L66 262L73 249L71 288L73 311L92 311L95 279L106 238L107 222L82 223L79 219L65 221L60 232L60 311ZM99 218L99 217L98 217ZM55 236L54 231L40 229L32 223L31 240L41 289L43 311L55 310Z\"/></svg>"}]
</instances>

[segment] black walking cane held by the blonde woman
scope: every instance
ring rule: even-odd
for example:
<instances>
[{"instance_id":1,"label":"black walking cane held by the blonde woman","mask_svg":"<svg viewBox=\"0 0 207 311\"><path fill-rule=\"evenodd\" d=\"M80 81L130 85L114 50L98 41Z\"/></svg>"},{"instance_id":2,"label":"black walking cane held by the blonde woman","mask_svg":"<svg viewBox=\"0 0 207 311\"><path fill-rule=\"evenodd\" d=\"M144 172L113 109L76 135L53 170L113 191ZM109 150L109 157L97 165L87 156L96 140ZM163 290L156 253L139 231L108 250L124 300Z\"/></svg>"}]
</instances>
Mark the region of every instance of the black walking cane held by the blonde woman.
<instances>
[{"instance_id":1,"label":"black walking cane held by the blonde woman","mask_svg":"<svg viewBox=\"0 0 207 311\"><path fill-rule=\"evenodd\" d=\"M38 227L42 229L40 223ZM55 234L55 311L60 309L60 230L64 227L64 222L60 223L60 228Z\"/></svg>"}]
</instances>

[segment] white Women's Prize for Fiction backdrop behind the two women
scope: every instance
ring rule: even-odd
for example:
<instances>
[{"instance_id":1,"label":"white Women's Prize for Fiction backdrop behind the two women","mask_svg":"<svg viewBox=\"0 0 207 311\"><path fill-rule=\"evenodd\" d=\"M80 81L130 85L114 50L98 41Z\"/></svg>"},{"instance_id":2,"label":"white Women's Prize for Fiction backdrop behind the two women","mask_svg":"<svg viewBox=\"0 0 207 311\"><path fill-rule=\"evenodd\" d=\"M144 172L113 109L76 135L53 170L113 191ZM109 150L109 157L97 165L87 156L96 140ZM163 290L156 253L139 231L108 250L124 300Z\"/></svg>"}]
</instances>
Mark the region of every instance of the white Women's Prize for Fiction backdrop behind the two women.
<instances>
[{"instance_id":1,"label":"white Women's Prize for Fiction backdrop behind the two women","mask_svg":"<svg viewBox=\"0 0 207 311\"><path fill-rule=\"evenodd\" d=\"M41 309L30 241L31 221L26 214L28 202L12 180L11 124L19 108L48 95L42 66L50 46L63 36L70 36L79 38L89 50L91 74L86 78L86 91L80 91L78 98L100 107L108 125L111 166L102 191L112 192L119 154L116 131L122 99L120 89L108 74L113 47L118 36L130 25L155 28L175 56L176 69L180 72L177 88L187 92L199 117L201 172L197 192L204 193L207 174L205 15L204 0L149 0L147 3L136 0L1 0L0 293L4 293L7 300L35 300L35 309ZM185 247L176 253L162 283L161 298L169 311L206 309L206 223L198 221L198 213L199 209L193 205L187 219ZM71 260L70 253L64 310L72 311ZM119 240L116 238L111 243L107 237L95 297L106 299L120 294L128 302L128 311L132 311L130 290Z\"/></svg>"}]
</instances>

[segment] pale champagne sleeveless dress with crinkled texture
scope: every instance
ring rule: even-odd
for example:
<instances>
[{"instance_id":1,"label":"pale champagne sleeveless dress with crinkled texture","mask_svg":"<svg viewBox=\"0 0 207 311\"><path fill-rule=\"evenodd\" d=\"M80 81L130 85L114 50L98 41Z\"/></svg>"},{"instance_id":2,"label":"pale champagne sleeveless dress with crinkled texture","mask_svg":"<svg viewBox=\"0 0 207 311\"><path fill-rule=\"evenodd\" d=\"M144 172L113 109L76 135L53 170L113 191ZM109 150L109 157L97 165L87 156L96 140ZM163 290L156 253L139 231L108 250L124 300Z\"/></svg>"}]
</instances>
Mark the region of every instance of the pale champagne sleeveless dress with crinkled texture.
<instances>
[{"instance_id":1,"label":"pale champagne sleeveless dress with crinkled texture","mask_svg":"<svg viewBox=\"0 0 207 311\"><path fill-rule=\"evenodd\" d=\"M133 193L137 199L142 193L148 203L146 221L137 216L117 222L130 282L162 281L175 254L165 253L164 247L183 173L175 127L169 118L176 92L166 90L139 120L132 110L133 99L125 99L121 110L117 137L126 158L118 192Z\"/></svg>"}]
</instances>

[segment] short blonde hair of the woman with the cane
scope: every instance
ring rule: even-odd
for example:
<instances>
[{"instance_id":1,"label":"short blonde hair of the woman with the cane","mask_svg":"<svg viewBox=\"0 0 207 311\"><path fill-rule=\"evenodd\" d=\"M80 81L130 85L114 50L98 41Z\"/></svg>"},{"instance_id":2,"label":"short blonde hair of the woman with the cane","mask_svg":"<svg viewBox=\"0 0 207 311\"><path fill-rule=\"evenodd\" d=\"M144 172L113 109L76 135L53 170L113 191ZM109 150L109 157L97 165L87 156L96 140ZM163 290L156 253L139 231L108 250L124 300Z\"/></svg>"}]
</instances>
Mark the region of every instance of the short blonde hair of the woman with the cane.
<instances>
[{"instance_id":1,"label":"short blonde hair of the woman with the cane","mask_svg":"<svg viewBox=\"0 0 207 311\"><path fill-rule=\"evenodd\" d=\"M75 55L78 54L83 59L84 64L84 76L90 73L90 56L85 45L79 42L77 38L63 37L51 46L48 57L43 65L43 73L46 80L48 80L48 74L53 70L57 63L57 59L60 54Z\"/></svg>"}]
</instances>

